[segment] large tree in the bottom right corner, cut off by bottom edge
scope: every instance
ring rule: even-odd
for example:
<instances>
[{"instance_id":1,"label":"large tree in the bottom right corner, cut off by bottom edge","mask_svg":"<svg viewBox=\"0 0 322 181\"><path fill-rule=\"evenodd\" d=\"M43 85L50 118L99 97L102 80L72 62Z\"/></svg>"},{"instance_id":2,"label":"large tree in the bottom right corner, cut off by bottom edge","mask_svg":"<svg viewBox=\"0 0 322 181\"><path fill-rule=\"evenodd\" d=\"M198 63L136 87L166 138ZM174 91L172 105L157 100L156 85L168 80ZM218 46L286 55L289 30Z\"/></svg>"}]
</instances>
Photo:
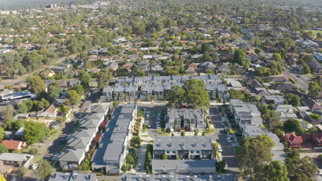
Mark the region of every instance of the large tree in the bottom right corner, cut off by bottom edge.
<instances>
[{"instance_id":1,"label":"large tree in the bottom right corner, cut off by bottom edge","mask_svg":"<svg viewBox=\"0 0 322 181\"><path fill-rule=\"evenodd\" d=\"M285 165L288 169L288 178L292 181L313 181L316 172L319 171L312 158L308 156L300 158L294 149L286 156Z\"/></svg>"}]
</instances>

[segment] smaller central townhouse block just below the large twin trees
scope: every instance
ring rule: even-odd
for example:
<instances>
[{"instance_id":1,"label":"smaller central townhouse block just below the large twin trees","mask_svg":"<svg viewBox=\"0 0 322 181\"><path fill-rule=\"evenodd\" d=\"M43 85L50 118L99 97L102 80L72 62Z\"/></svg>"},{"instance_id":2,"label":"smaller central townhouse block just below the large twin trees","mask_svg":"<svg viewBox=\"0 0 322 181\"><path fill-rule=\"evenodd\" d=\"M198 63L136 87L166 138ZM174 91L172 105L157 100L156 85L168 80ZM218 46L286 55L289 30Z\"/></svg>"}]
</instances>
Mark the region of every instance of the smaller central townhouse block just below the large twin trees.
<instances>
[{"instance_id":1,"label":"smaller central townhouse block just below the large twin trees","mask_svg":"<svg viewBox=\"0 0 322 181\"><path fill-rule=\"evenodd\" d=\"M206 118L202 109L168 109L164 120L166 128L206 128Z\"/></svg>"}]
</instances>

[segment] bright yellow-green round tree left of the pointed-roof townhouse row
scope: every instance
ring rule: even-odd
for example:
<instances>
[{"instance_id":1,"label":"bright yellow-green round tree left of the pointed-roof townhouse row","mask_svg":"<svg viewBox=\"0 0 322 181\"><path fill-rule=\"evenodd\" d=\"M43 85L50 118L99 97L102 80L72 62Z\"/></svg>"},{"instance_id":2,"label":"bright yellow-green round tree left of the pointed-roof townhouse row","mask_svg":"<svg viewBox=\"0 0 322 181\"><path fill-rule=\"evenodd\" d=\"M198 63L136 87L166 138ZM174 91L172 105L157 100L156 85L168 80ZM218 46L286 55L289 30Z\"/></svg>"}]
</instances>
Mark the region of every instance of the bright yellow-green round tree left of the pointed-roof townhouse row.
<instances>
[{"instance_id":1,"label":"bright yellow-green round tree left of the pointed-roof townhouse row","mask_svg":"<svg viewBox=\"0 0 322 181\"><path fill-rule=\"evenodd\" d=\"M27 141L28 145L43 141L49 134L49 128L47 128L43 123L36 123L33 121L25 123L25 132L23 137L25 138L25 141Z\"/></svg>"}]
</instances>

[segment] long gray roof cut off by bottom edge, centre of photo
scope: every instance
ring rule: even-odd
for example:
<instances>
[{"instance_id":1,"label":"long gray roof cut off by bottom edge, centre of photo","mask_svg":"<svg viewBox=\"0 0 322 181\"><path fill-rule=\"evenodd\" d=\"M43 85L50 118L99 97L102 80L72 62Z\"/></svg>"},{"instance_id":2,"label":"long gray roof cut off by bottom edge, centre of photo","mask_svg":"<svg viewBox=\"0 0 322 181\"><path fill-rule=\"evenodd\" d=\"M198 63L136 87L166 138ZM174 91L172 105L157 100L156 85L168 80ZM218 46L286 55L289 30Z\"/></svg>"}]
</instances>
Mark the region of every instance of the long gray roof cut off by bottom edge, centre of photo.
<instances>
[{"instance_id":1,"label":"long gray roof cut off by bottom edge, centre of photo","mask_svg":"<svg viewBox=\"0 0 322 181\"><path fill-rule=\"evenodd\" d=\"M178 174L123 174L121 181L237 181L236 174L178 175Z\"/></svg>"}]
</instances>

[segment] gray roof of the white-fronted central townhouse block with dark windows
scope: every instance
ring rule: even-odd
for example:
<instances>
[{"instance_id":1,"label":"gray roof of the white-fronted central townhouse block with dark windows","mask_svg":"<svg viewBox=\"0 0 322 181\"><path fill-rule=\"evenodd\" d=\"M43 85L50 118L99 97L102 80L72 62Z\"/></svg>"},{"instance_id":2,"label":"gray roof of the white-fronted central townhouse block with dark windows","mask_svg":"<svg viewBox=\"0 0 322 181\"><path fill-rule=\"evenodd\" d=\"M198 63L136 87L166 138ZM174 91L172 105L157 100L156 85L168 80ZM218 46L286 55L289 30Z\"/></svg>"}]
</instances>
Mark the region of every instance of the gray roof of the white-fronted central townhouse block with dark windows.
<instances>
[{"instance_id":1,"label":"gray roof of the white-fronted central townhouse block with dark windows","mask_svg":"<svg viewBox=\"0 0 322 181\"><path fill-rule=\"evenodd\" d=\"M153 150L213 150L206 136L156 136Z\"/></svg>"}]
</instances>

